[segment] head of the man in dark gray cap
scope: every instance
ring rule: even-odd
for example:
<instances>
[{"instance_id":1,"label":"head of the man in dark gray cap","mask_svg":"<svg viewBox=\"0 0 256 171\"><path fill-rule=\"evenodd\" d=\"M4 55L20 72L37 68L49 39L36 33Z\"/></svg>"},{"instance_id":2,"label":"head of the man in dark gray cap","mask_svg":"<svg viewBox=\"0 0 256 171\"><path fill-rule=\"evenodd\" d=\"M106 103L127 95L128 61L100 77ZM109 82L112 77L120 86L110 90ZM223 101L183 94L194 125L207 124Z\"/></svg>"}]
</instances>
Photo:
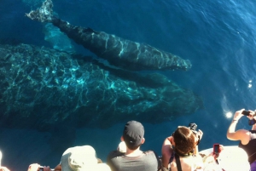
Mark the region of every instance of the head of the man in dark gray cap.
<instances>
[{"instance_id":1,"label":"head of the man in dark gray cap","mask_svg":"<svg viewBox=\"0 0 256 171\"><path fill-rule=\"evenodd\" d=\"M122 139L130 150L136 150L144 143L144 127L137 121L129 121L125 124Z\"/></svg>"}]
</instances>

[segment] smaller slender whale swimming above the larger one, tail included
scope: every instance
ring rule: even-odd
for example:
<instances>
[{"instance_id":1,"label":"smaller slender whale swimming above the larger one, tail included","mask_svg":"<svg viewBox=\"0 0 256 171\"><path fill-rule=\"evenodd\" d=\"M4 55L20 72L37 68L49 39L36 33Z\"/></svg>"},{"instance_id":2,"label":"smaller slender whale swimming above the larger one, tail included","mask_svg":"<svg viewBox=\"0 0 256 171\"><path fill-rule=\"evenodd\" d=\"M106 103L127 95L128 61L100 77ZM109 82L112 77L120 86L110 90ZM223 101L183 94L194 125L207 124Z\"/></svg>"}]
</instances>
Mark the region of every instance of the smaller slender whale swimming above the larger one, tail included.
<instances>
[{"instance_id":1,"label":"smaller slender whale swimming above the larger one, tail included","mask_svg":"<svg viewBox=\"0 0 256 171\"><path fill-rule=\"evenodd\" d=\"M75 43L83 45L97 57L108 60L112 66L130 70L183 70L191 68L189 60L154 48L146 43L137 43L108 34L94 31L90 27L73 26L53 14L53 3L46 0L39 9L32 10L26 16L39 22L49 22L64 32Z\"/></svg>"}]
</instances>

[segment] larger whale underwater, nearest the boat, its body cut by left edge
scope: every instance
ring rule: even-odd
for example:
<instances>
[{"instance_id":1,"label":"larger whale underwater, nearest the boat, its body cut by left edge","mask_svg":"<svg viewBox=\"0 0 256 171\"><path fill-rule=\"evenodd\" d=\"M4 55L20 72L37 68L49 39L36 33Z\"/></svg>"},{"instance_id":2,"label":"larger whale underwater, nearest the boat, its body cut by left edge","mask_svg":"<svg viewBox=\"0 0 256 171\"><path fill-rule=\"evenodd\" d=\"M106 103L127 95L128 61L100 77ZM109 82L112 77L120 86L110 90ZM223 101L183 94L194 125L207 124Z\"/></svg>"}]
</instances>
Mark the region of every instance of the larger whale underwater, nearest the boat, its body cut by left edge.
<instances>
[{"instance_id":1,"label":"larger whale underwater, nearest the boat, its body cut by left edge","mask_svg":"<svg viewBox=\"0 0 256 171\"><path fill-rule=\"evenodd\" d=\"M125 71L54 48L0 44L1 128L155 124L200 109L200 96L160 73Z\"/></svg>"}]
</instances>

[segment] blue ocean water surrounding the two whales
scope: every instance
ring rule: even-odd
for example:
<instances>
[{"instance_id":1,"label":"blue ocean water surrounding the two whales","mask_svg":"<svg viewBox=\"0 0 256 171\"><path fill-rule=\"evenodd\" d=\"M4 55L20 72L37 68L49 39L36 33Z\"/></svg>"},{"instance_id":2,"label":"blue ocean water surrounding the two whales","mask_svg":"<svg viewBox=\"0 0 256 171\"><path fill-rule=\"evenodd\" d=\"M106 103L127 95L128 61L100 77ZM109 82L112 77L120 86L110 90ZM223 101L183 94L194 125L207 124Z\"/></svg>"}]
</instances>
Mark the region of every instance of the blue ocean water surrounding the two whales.
<instances>
[{"instance_id":1,"label":"blue ocean water surrounding the two whales","mask_svg":"<svg viewBox=\"0 0 256 171\"><path fill-rule=\"evenodd\" d=\"M39 0L0 1L0 41L52 47L50 38L46 38L49 31L41 23L25 17L25 13L41 3ZM89 26L96 31L148 43L191 61L193 66L189 71L160 73L200 95L204 109L171 122L143 123L146 139L143 150L151 149L160 155L163 140L178 125L191 122L204 133L200 150L212 148L214 143L238 145L226 139L232 119L226 117L226 113L234 114L242 108L255 110L256 3L253 0L53 0L53 3L55 13L73 25ZM90 54L65 40L65 45L71 43L76 52ZM65 146L72 139L72 145L92 145L97 156L106 161L108 152L119 144L124 124L107 129L79 128L73 136L66 136L68 128L60 128L59 134L67 140L59 143ZM241 118L237 128L250 128L247 118ZM2 164L11 170L26 170L33 162L54 168L60 162L61 151L52 152L50 146L52 141L58 140L50 133L34 129L0 130Z\"/></svg>"}]
</instances>

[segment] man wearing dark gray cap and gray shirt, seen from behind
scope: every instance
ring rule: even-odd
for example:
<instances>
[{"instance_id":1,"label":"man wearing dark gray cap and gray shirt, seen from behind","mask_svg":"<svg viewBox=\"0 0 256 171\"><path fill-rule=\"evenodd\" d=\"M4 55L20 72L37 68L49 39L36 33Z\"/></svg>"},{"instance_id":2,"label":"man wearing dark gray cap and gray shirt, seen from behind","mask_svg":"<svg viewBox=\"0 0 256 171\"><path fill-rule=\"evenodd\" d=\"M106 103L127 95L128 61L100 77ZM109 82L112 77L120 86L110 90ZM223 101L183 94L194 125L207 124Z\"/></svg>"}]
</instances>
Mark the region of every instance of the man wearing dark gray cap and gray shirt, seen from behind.
<instances>
[{"instance_id":1,"label":"man wearing dark gray cap and gray shirt, seen from behind","mask_svg":"<svg viewBox=\"0 0 256 171\"><path fill-rule=\"evenodd\" d=\"M125 141L126 151L112 151L108 155L107 164L112 171L160 170L160 160L155 152L140 150L140 146L145 142L142 123L126 123L121 140Z\"/></svg>"}]
</instances>

